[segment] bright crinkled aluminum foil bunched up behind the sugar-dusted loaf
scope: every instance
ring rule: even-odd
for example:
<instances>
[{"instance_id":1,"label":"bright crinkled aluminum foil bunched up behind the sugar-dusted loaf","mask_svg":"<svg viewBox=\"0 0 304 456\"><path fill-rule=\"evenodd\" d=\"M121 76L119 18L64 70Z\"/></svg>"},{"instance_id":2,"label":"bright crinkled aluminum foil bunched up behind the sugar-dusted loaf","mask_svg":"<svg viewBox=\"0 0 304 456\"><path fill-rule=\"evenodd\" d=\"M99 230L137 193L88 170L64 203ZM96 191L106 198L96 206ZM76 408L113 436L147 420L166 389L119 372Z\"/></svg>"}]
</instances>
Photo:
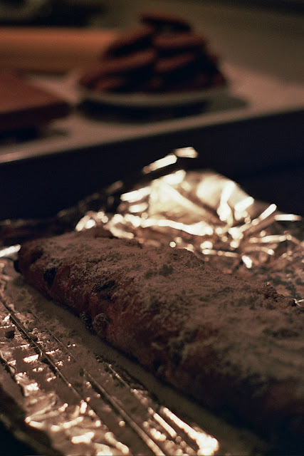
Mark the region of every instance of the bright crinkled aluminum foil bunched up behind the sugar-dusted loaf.
<instances>
[{"instance_id":1,"label":"bright crinkled aluminum foil bunched up behind the sugar-dusted loaf","mask_svg":"<svg viewBox=\"0 0 304 456\"><path fill-rule=\"evenodd\" d=\"M103 224L117 237L189 249L227 273L271 282L300 305L302 217L256 201L214 171L185 169L195 158L184 147L145 167L142 182L116 182L105 209L88 211L75 229Z\"/></svg>"}]
</instances>

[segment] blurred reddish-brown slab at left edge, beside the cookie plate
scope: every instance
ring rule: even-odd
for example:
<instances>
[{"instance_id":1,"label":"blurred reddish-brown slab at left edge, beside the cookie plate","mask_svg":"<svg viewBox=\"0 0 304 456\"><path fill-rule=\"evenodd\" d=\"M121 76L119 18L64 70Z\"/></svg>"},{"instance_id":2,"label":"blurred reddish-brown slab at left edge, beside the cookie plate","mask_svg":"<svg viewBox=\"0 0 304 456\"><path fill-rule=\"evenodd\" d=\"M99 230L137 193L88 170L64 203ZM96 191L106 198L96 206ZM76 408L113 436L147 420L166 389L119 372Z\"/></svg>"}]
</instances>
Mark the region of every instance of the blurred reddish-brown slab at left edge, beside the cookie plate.
<instances>
[{"instance_id":1,"label":"blurred reddish-brown slab at left edge, beside the cookie plate","mask_svg":"<svg viewBox=\"0 0 304 456\"><path fill-rule=\"evenodd\" d=\"M40 127L69 111L68 103L57 95L0 68L0 133Z\"/></svg>"}]
</instances>

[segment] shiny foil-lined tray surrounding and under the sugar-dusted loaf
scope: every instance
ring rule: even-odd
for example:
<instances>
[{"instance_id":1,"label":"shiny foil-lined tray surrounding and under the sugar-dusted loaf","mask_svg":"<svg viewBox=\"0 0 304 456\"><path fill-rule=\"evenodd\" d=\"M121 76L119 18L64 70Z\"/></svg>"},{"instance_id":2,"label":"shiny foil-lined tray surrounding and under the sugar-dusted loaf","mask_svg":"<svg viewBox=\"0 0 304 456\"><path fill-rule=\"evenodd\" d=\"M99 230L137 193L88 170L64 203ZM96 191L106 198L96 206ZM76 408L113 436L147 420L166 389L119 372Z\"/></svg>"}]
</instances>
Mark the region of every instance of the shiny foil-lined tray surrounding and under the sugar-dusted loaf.
<instances>
[{"instance_id":1,"label":"shiny foil-lined tray surrounding and under the sugar-dusted loaf","mask_svg":"<svg viewBox=\"0 0 304 456\"><path fill-rule=\"evenodd\" d=\"M43 220L0 226L0 420L45 455L253 455L268 442L159 383L14 270L25 239L103 225L268 281L303 307L303 220L196 169L192 147Z\"/></svg>"}]
</instances>

